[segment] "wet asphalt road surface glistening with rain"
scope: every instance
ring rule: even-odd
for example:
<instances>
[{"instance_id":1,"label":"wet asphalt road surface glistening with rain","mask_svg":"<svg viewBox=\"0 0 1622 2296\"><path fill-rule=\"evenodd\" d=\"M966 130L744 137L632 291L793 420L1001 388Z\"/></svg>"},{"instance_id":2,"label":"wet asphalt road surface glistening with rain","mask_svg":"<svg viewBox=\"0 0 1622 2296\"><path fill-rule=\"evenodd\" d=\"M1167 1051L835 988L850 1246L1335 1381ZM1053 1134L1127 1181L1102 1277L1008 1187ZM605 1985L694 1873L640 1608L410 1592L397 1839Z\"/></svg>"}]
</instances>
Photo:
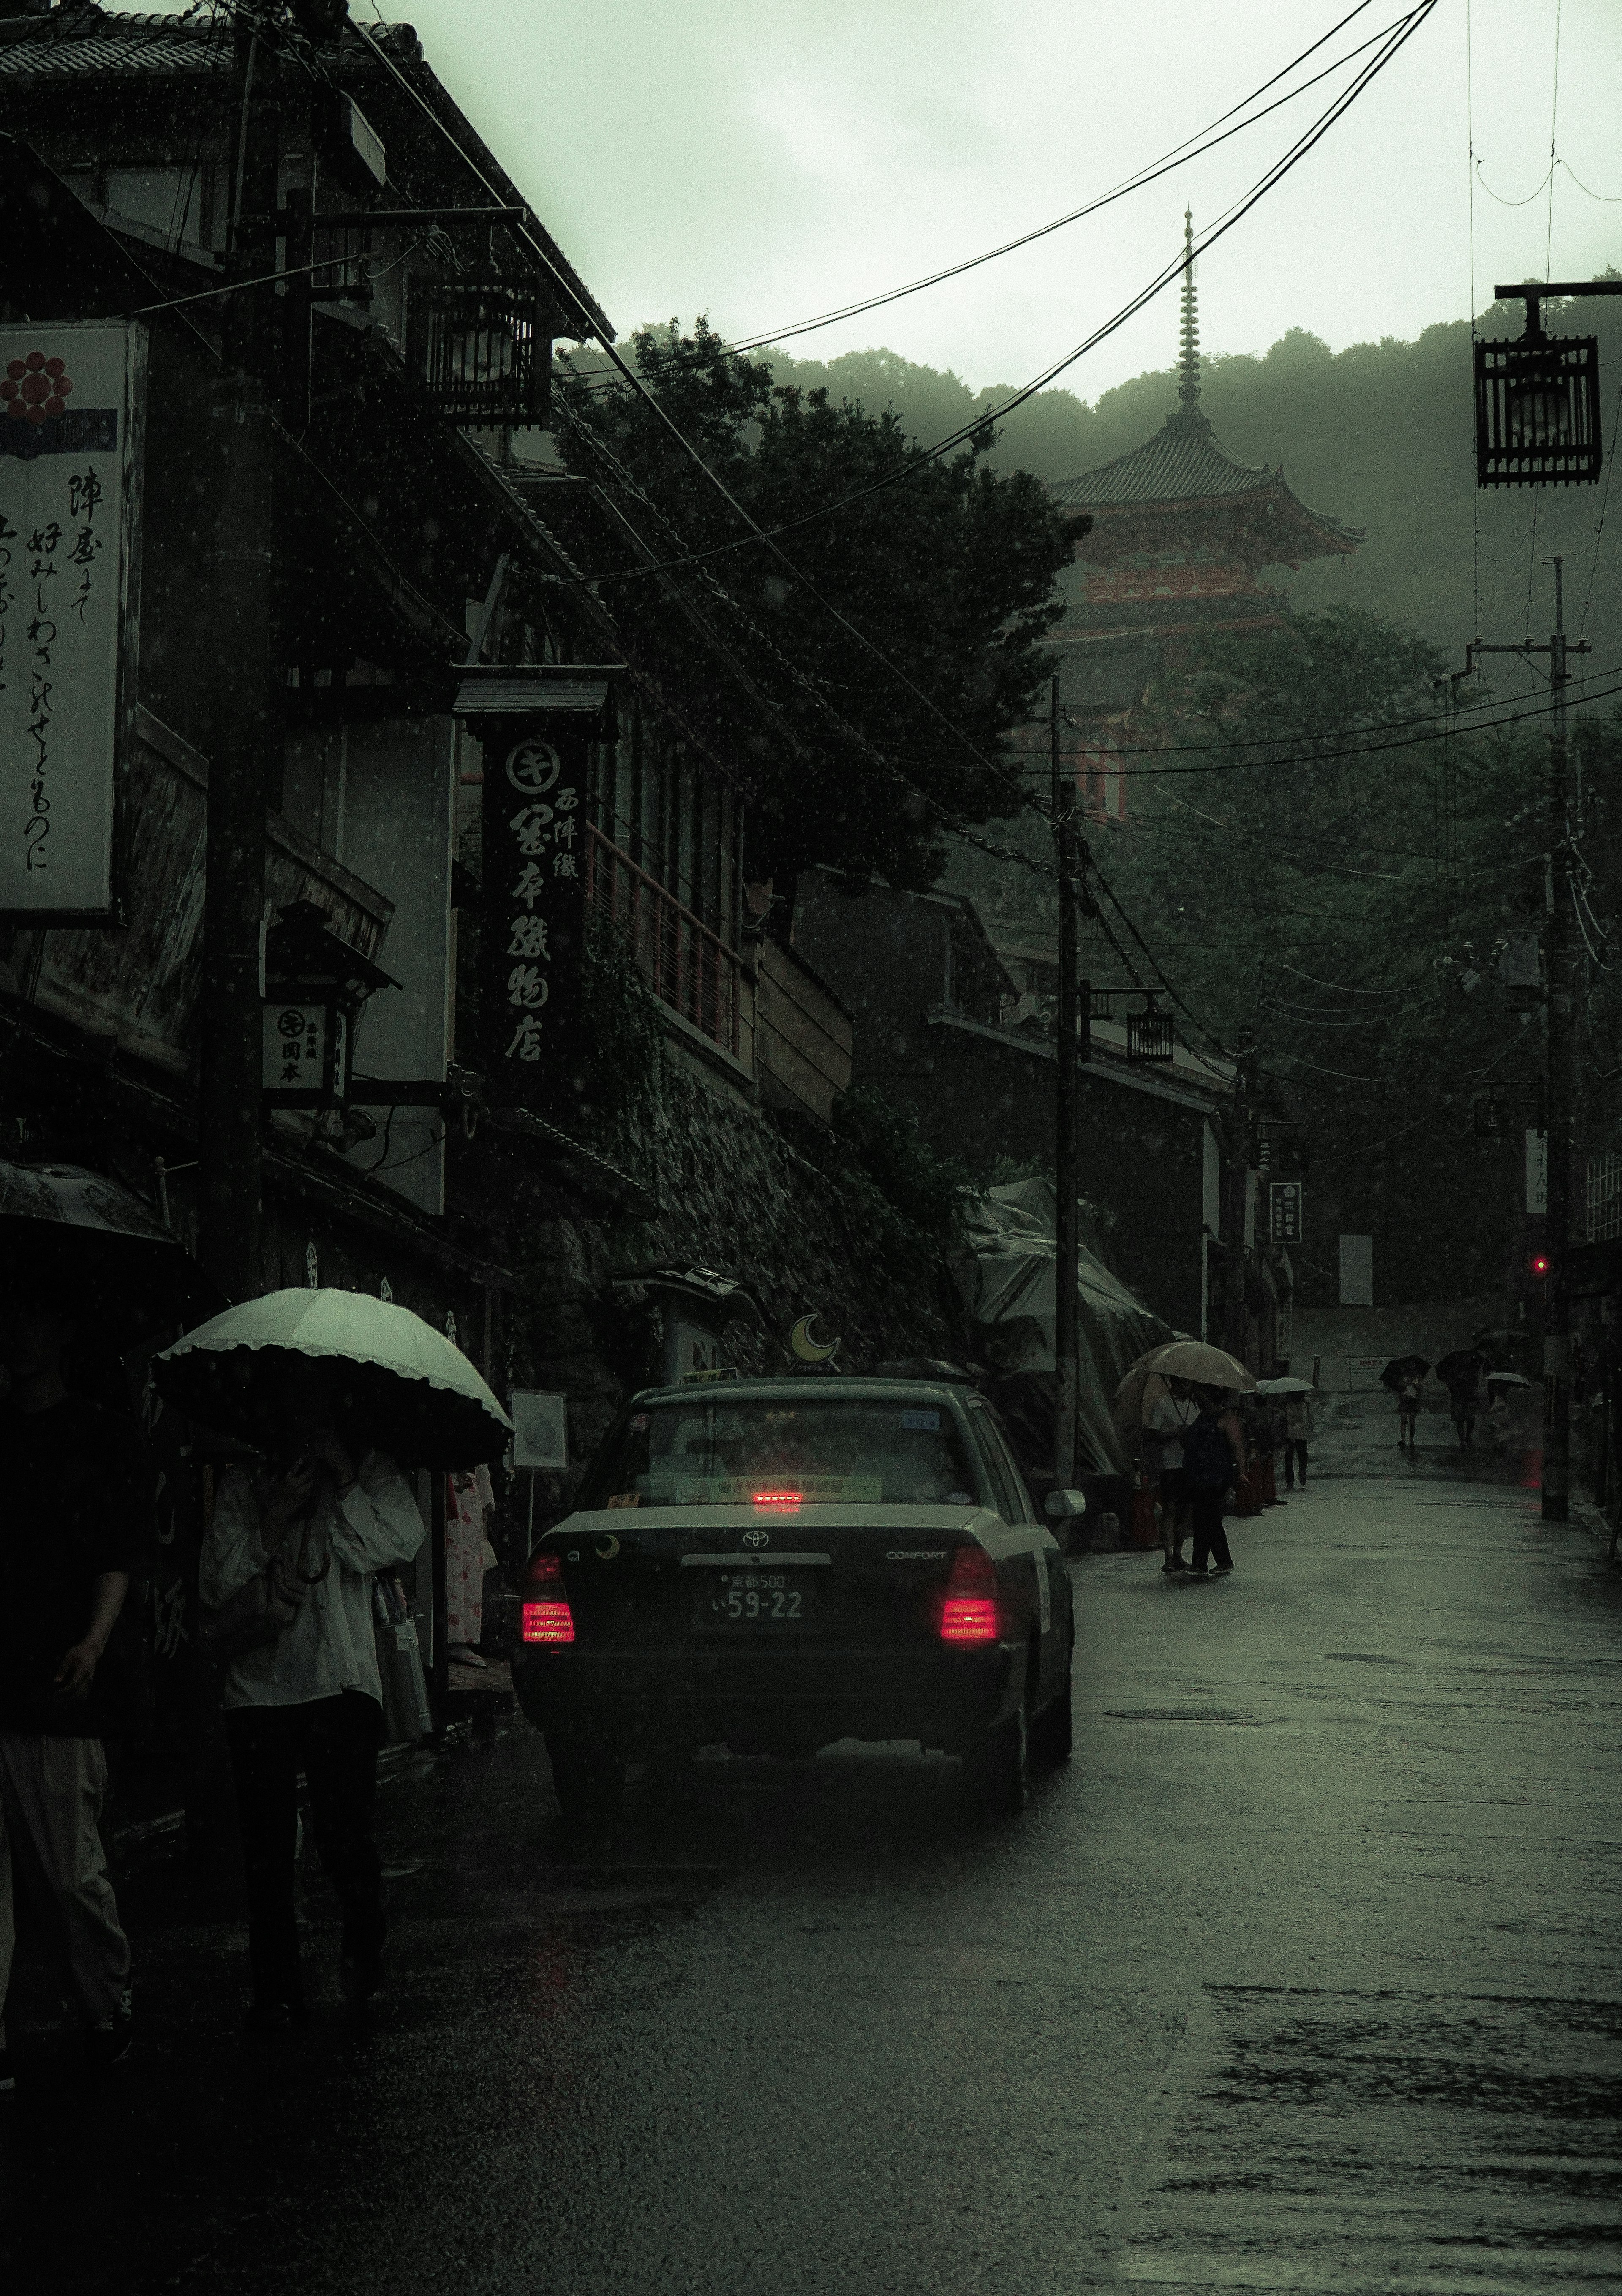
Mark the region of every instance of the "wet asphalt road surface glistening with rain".
<instances>
[{"instance_id":1,"label":"wet asphalt road surface glistening with rain","mask_svg":"<svg viewBox=\"0 0 1622 2296\"><path fill-rule=\"evenodd\" d=\"M138 2055L34 2041L0 2138L18 2285L1622 2285L1622 1582L1514 1460L1351 1433L1232 1580L1074 1566L1019 1823L837 1752L633 1789L592 1855L528 1729L413 1756L390 1995L271 2046L229 1887L147 1844Z\"/></svg>"}]
</instances>

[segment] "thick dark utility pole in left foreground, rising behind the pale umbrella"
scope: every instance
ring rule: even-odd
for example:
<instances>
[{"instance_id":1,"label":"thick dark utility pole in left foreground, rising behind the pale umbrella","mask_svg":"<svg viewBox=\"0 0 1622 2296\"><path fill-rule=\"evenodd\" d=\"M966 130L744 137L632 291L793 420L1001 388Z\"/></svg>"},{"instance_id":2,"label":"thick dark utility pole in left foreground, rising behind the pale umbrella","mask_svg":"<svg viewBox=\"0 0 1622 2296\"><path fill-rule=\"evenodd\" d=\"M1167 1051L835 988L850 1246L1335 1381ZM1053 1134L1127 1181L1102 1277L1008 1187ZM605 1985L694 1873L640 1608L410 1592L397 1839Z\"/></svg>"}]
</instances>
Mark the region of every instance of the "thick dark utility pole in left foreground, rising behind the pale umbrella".
<instances>
[{"instance_id":1,"label":"thick dark utility pole in left foreground, rising behind the pale umbrella","mask_svg":"<svg viewBox=\"0 0 1622 2296\"><path fill-rule=\"evenodd\" d=\"M232 282L275 266L280 57L236 23L232 71ZM264 813L280 781L273 583L275 285L225 298L225 374L213 406L220 498L213 567L220 657L209 760L202 898L200 1256L229 1300L259 1293Z\"/></svg>"}]
</instances>

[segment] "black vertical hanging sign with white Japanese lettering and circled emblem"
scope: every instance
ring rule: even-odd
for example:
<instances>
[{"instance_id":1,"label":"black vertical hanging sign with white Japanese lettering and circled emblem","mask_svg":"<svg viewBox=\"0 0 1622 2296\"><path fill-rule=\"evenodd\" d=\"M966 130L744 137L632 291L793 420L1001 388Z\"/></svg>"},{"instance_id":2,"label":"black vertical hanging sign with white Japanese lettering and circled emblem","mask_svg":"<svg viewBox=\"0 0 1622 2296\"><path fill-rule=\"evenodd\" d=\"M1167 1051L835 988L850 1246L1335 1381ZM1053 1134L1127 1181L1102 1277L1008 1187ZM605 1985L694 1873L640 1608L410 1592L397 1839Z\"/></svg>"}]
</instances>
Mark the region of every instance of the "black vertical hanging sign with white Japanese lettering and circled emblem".
<instances>
[{"instance_id":1,"label":"black vertical hanging sign with white Japanese lettering and circled emblem","mask_svg":"<svg viewBox=\"0 0 1622 2296\"><path fill-rule=\"evenodd\" d=\"M479 974L496 1107L562 1109L580 1061L587 808L583 712L475 716L484 746Z\"/></svg>"}]
</instances>

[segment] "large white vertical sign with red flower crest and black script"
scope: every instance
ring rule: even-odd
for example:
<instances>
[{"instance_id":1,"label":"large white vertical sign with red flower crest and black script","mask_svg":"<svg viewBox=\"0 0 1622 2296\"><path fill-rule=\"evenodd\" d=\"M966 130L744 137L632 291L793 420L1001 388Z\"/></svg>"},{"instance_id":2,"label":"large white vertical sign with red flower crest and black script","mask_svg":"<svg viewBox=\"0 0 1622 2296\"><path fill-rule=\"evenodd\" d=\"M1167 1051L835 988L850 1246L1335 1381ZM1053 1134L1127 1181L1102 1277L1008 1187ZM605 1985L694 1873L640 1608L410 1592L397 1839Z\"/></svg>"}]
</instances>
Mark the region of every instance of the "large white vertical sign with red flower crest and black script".
<instances>
[{"instance_id":1,"label":"large white vertical sign with red flower crest and black script","mask_svg":"<svg viewBox=\"0 0 1622 2296\"><path fill-rule=\"evenodd\" d=\"M135 707L138 326L0 328L0 912L115 914Z\"/></svg>"}]
</instances>

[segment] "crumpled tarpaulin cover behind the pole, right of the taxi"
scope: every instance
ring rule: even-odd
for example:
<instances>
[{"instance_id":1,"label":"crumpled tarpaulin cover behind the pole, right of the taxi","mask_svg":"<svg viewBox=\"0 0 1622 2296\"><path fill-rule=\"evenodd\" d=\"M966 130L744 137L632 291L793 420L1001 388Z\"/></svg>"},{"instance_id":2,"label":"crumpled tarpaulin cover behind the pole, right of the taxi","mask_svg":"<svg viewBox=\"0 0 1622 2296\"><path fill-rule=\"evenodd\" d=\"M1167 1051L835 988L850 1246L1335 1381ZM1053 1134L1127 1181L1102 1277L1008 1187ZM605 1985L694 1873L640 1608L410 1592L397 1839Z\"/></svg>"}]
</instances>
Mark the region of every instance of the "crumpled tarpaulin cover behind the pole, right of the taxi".
<instances>
[{"instance_id":1,"label":"crumpled tarpaulin cover behind the pole, right of the taxi","mask_svg":"<svg viewBox=\"0 0 1622 2296\"><path fill-rule=\"evenodd\" d=\"M989 1189L970 1212L970 1256L959 1263L959 1290L975 1322L1005 1329L1028 1325L1026 1343L1019 1348L1026 1371L1053 1371L1055 1228L1058 1203L1051 1182L1009 1180ZM1110 1412L1110 1396L1140 1355L1175 1334L1085 1247L1078 1254L1076 1288L1081 1295L1078 1451L1090 1460L1085 1472L1126 1474L1129 1458Z\"/></svg>"}]
</instances>

